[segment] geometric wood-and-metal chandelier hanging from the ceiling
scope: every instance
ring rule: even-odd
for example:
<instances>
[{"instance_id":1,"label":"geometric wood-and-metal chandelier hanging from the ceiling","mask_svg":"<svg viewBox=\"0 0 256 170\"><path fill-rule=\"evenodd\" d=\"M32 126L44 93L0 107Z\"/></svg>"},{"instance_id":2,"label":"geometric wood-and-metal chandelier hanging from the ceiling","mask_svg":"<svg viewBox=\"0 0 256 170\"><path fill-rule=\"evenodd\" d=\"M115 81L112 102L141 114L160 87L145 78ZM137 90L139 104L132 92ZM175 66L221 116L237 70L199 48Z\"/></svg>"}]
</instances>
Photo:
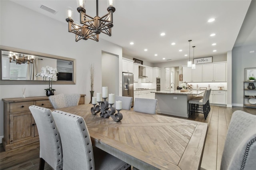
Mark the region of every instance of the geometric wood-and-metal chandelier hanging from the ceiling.
<instances>
[{"instance_id":1,"label":"geometric wood-and-metal chandelier hanging from the ceiling","mask_svg":"<svg viewBox=\"0 0 256 170\"><path fill-rule=\"evenodd\" d=\"M98 16L98 0L96 0L96 16L91 17L86 14L85 0L77 0L77 11L80 13L80 24L74 23L72 20L73 9L68 7L66 10L66 22L68 22L68 32L76 34L76 42L81 39L92 39L99 41L99 34L102 32L111 36L111 28L113 27L113 12L116 8L113 6L113 0L109 0L107 8L108 14L102 17Z\"/></svg>"}]
</instances>

